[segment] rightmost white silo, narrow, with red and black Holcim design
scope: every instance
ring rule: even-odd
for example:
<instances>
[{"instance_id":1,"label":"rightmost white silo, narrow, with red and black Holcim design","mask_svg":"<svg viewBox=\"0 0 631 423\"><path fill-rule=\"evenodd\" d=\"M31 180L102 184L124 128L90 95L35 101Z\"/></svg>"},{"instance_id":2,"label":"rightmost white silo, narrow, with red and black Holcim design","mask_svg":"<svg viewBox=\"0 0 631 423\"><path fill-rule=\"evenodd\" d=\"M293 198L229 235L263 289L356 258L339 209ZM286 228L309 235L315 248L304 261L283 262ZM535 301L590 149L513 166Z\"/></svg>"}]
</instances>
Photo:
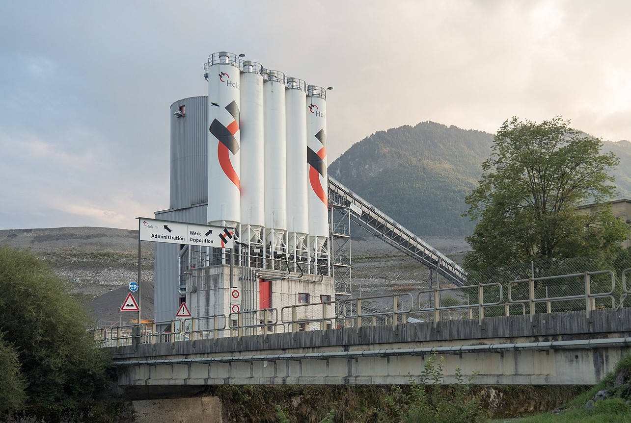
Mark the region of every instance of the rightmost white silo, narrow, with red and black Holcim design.
<instances>
[{"instance_id":1,"label":"rightmost white silo, narrow, with red and black Holcim design","mask_svg":"<svg viewBox=\"0 0 631 423\"><path fill-rule=\"evenodd\" d=\"M307 87L306 115L310 249L315 251L316 257L318 257L320 254L326 254L326 241L329 238L326 89L314 85Z\"/></svg>"}]
</instances>

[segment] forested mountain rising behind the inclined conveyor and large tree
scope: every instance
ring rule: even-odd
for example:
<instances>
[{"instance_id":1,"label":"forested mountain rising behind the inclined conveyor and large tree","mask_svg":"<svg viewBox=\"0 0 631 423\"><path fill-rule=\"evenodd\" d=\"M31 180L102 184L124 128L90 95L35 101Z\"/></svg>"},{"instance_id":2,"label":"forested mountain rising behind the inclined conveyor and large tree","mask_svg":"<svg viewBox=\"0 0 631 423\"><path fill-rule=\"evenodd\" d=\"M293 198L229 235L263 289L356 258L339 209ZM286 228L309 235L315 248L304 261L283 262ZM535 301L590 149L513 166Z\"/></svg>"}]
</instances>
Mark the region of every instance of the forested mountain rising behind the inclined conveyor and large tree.
<instances>
[{"instance_id":1,"label":"forested mountain rising behind the inclined conveyor and large tree","mask_svg":"<svg viewBox=\"0 0 631 423\"><path fill-rule=\"evenodd\" d=\"M464 198L478 186L493 135L421 122L380 131L329 164L329 174L419 236L468 235ZM620 195L631 198L631 143L604 142L620 157Z\"/></svg>"}]
</instances>

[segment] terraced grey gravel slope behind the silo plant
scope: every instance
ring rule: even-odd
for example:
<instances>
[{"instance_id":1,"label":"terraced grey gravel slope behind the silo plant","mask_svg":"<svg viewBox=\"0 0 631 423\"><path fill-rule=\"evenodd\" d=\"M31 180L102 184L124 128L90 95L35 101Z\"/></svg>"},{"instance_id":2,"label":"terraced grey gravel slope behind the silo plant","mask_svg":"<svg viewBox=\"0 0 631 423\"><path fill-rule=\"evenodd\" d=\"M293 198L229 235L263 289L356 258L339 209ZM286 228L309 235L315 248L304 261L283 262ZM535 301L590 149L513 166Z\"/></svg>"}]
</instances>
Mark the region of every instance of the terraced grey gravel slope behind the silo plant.
<instances>
[{"instance_id":1,"label":"terraced grey gravel slope behind the silo plant","mask_svg":"<svg viewBox=\"0 0 631 423\"><path fill-rule=\"evenodd\" d=\"M469 249L463 238L423 239L455 262L461 262ZM118 322L136 317L131 312L121 314L120 307L129 292L127 283L138 278L138 231L98 227L0 230L0 244L28 248L49 262L68 281L73 298L85 303L94 319ZM419 290L430 285L425 266L382 240L353 239L350 248L354 296L411 292L416 298ZM143 319L151 319L153 243L143 242L142 252L141 307ZM389 307L376 300L366 305Z\"/></svg>"}]
</instances>

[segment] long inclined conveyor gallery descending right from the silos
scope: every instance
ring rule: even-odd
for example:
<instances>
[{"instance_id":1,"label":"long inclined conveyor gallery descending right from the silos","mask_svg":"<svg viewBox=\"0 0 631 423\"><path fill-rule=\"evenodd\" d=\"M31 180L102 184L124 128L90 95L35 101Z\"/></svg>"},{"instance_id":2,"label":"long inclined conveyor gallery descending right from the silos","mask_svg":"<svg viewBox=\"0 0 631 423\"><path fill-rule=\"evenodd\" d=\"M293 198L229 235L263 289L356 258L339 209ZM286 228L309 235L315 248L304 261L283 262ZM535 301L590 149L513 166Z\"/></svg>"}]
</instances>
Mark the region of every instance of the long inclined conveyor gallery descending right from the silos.
<instances>
[{"instance_id":1,"label":"long inclined conveyor gallery descending right from the silos","mask_svg":"<svg viewBox=\"0 0 631 423\"><path fill-rule=\"evenodd\" d=\"M350 210L350 220L377 238L420 261L454 285L464 285L466 274L463 268L331 176L329 176L329 201L334 205L347 207Z\"/></svg>"}]
</instances>

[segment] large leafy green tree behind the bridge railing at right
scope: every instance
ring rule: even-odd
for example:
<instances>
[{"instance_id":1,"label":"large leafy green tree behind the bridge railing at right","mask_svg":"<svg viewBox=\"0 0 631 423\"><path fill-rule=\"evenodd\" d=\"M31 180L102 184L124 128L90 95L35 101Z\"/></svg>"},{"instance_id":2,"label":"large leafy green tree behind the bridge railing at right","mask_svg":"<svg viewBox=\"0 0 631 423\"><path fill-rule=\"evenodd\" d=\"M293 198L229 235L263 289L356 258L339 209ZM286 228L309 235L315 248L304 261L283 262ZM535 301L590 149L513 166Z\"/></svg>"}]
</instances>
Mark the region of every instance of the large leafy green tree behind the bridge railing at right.
<instances>
[{"instance_id":1,"label":"large leafy green tree behind the bridge railing at right","mask_svg":"<svg viewBox=\"0 0 631 423\"><path fill-rule=\"evenodd\" d=\"M601 140L569 127L560 117L543 123L512 118L493 140L478 188L466 197L472 251L469 271L562 259L618 248L625 222L608 205L614 194L610 171L618 165ZM577 207L593 202L592 213Z\"/></svg>"}]
</instances>

